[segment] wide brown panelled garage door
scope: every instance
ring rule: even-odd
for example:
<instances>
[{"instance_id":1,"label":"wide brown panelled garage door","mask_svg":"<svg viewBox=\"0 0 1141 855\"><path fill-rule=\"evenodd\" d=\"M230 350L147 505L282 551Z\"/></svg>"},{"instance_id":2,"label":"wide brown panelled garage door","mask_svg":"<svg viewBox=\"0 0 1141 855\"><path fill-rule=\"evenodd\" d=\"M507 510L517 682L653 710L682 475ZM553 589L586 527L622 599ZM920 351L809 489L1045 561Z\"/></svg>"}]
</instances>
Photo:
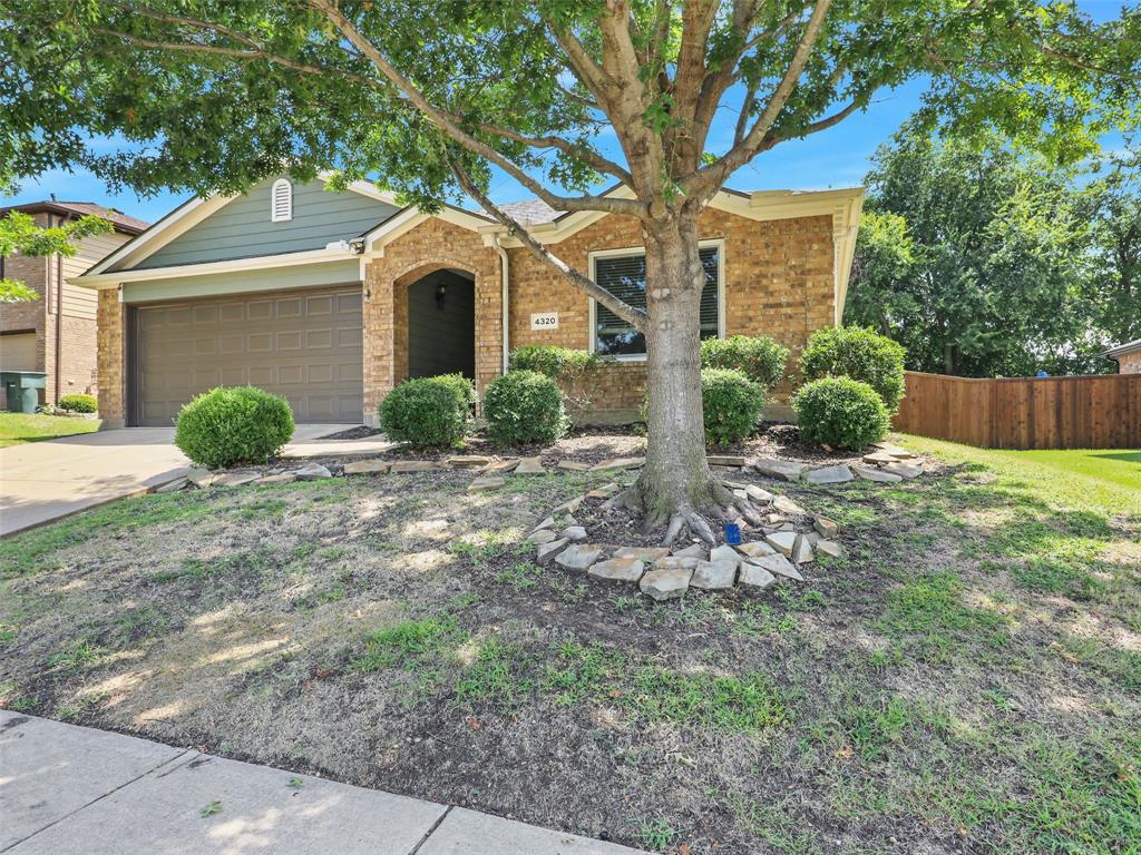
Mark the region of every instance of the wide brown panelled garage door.
<instances>
[{"instance_id":1,"label":"wide brown panelled garage door","mask_svg":"<svg viewBox=\"0 0 1141 855\"><path fill-rule=\"evenodd\" d=\"M361 288L234 295L135 310L135 422L169 425L195 394L254 385L298 422L358 423Z\"/></svg>"}]
</instances>

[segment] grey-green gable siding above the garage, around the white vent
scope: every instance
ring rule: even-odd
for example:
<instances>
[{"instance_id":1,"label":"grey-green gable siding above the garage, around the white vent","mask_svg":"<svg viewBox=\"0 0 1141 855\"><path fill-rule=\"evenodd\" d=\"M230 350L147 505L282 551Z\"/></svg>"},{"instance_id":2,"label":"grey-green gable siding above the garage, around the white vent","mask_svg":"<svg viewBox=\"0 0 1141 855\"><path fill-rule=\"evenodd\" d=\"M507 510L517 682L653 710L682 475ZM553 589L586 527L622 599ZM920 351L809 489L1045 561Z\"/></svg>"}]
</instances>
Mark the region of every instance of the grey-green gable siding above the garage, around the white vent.
<instances>
[{"instance_id":1,"label":"grey-green gable siding above the garage, around the white vent","mask_svg":"<svg viewBox=\"0 0 1141 855\"><path fill-rule=\"evenodd\" d=\"M399 209L359 193L330 193L321 181L293 184L293 219L269 221L269 178L135 266L136 269L323 250L359 236Z\"/></svg>"}]
</instances>

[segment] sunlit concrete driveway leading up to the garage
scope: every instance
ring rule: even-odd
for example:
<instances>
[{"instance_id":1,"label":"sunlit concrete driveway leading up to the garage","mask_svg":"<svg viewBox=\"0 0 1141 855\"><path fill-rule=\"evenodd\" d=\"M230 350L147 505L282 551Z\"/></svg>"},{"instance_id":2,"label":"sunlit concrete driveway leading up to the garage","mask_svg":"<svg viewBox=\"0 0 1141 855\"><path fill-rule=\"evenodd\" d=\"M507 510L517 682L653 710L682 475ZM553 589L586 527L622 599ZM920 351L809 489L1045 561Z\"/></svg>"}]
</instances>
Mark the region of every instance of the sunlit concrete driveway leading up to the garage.
<instances>
[{"instance_id":1,"label":"sunlit concrete driveway leading up to the garage","mask_svg":"<svg viewBox=\"0 0 1141 855\"><path fill-rule=\"evenodd\" d=\"M365 454L380 439L317 442L348 424L298 425L290 456ZM0 537L146 492L186 474L173 427L124 427L0 449Z\"/></svg>"}]
</instances>

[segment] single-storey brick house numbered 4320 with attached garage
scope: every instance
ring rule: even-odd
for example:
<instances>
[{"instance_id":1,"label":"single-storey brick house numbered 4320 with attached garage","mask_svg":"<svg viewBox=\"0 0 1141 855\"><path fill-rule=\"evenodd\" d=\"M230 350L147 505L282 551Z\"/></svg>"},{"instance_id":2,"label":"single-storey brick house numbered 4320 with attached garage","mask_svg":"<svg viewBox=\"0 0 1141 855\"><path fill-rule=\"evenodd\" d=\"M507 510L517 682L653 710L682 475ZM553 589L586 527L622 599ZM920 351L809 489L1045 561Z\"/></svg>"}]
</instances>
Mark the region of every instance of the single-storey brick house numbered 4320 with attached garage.
<instances>
[{"instance_id":1,"label":"single-storey brick house numbered 4320 with attached garage","mask_svg":"<svg viewBox=\"0 0 1141 855\"><path fill-rule=\"evenodd\" d=\"M299 422L375 424L402 380L462 372L482 390L533 343L613 356L591 377L588 417L637 413L640 336L491 217L324 184L192 199L81 277L99 295L105 424L169 425L192 396L243 383L284 394ZM837 323L861 201L858 188L719 193L701 220L706 334L769 334L798 353ZM633 219L507 207L566 262L637 294Z\"/></svg>"}]
</instances>

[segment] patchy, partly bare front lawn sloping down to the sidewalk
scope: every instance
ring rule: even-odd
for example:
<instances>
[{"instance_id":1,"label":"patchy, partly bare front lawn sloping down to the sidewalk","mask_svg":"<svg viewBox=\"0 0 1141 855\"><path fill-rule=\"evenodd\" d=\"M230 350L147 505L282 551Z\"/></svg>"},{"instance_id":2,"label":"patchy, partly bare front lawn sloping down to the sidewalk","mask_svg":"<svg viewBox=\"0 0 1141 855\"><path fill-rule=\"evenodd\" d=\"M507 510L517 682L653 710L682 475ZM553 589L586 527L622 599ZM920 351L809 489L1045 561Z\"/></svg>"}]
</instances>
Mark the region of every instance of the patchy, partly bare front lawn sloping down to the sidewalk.
<instances>
[{"instance_id":1,"label":"patchy, partly bare front lawn sloping down to the sidewalk","mask_svg":"<svg viewBox=\"0 0 1141 855\"><path fill-rule=\"evenodd\" d=\"M656 605L532 563L582 473L127 499L0 542L0 706L663 852L1138 853L1135 461L904 442L735 473L848 557Z\"/></svg>"}]
</instances>

